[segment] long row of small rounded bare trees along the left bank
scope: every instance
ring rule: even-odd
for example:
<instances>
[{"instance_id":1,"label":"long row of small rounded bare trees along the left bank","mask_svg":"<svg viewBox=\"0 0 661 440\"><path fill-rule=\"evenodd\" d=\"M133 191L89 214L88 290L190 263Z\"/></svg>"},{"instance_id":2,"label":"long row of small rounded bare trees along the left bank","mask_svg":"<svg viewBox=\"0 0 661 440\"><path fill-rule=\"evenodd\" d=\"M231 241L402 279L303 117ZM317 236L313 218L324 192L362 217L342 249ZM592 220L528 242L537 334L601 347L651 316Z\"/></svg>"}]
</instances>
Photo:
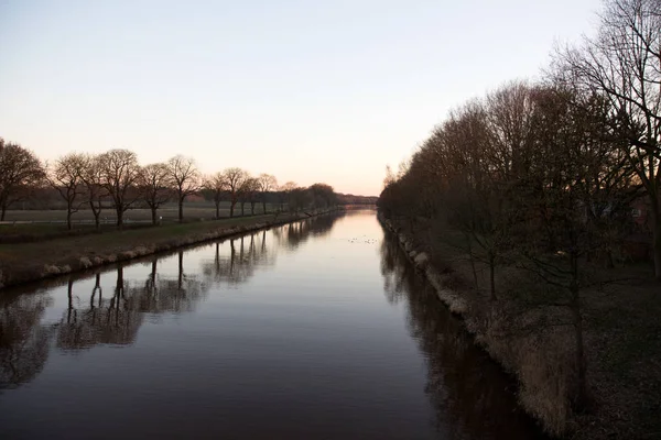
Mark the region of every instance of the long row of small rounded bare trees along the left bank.
<instances>
[{"instance_id":1,"label":"long row of small rounded bare trees along the left bank","mask_svg":"<svg viewBox=\"0 0 661 440\"><path fill-rule=\"evenodd\" d=\"M257 204L267 213L269 195L277 197L279 210L338 204L333 187L326 184L307 188L293 182L279 185L270 174L252 176L238 167L205 176L193 158L183 155L141 166L134 152L110 150L96 155L68 153L44 164L30 150L0 138L0 221L12 205L35 197L36 189L44 187L53 188L65 202L69 230L72 216L82 209L89 209L99 228L101 211L108 206L116 213L118 228L123 226L124 213L138 207L149 208L156 224L159 209L172 201L178 206L178 221L183 221L184 201L196 194L214 201L216 218L220 218L225 200L229 201L229 217L235 217L237 204L241 216L246 215L246 204L251 215Z\"/></svg>"}]
</instances>

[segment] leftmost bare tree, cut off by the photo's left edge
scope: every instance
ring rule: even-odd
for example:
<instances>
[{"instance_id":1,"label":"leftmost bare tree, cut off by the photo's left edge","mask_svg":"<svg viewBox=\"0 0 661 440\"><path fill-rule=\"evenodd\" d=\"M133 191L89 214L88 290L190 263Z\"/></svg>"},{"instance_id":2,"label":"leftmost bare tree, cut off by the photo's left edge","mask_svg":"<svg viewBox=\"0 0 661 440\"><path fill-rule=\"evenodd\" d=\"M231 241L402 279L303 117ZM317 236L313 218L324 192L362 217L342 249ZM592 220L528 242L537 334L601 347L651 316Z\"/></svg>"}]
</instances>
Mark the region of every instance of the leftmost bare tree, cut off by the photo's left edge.
<instances>
[{"instance_id":1,"label":"leftmost bare tree, cut off by the photo's left edge","mask_svg":"<svg viewBox=\"0 0 661 440\"><path fill-rule=\"evenodd\" d=\"M7 209L25 198L31 187L39 185L44 176L44 168L34 153L0 138L0 221L4 221Z\"/></svg>"}]
</instances>

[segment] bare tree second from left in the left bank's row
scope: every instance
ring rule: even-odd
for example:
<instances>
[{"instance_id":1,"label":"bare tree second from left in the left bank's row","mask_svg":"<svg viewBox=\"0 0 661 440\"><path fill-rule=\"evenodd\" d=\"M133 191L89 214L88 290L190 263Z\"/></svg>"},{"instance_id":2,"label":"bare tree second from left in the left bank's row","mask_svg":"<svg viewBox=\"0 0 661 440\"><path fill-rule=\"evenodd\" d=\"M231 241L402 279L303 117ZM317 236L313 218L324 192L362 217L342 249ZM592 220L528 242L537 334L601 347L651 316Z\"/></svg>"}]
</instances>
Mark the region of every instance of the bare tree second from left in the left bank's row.
<instances>
[{"instance_id":1,"label":"bare tree second from left in the left bank's row","mask_svg":"<svg viewBox=\"0 0 661 440\"><path fill-rule=\"evenodd\" d=\"M80 201L84 191L83 173L87 157L80 153L69 153L51 167L47 175L48 183L57 190L66 202L66 227L72 230L72 215L80 209L85 201Z\"/></svg>"}]
</instances>

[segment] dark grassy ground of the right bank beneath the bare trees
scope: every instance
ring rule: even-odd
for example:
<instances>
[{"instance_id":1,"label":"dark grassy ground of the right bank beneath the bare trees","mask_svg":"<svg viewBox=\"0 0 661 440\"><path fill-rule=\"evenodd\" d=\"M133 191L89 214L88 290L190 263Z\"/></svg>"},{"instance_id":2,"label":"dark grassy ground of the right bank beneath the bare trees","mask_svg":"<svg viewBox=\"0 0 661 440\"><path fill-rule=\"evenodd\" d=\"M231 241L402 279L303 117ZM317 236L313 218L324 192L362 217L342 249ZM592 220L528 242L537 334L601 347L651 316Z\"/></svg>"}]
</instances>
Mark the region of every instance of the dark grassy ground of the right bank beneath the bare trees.
<instances>
[{"instance_id":1,"label":"dark grassy ground of the right bank beneath the bare trees","mask_svg":"<svg viewBox=\"0 0 661 440\"><path fill-rule=\"evenodd\" d=\"M661 438L661 298L648 267L608 270L626 282L583 294L590 405L577 411L568 397L575 370L566 310L531 307L530 293L540 286L511 266L499 268L500 294L490 301L488 270L469 261L456 231L379 219L476 343L517 377L520 405L546 432L589 440Z\"/></svg>"}]
</instances>

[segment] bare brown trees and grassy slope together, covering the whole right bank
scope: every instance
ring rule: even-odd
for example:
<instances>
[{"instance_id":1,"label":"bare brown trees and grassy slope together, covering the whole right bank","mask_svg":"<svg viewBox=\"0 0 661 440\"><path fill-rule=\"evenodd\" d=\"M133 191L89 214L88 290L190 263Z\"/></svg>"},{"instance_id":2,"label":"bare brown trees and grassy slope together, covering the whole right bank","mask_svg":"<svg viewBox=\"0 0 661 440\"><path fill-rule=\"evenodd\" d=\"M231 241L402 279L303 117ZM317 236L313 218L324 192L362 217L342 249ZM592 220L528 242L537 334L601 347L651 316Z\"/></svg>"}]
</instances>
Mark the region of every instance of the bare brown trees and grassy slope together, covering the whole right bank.
<instances>
[{"instance_id":1,"label":"bare brown trees and grassy slope together, covering the whole right bank","mask_svg":"<svg viewBox=\"0 0 661 440\"><path fill-rule=\"evenodd\" d=\"M451 110L377 204L555 437L661 439L660 11L604 0L539 78Z\"/></svg>"}]
</instances>

